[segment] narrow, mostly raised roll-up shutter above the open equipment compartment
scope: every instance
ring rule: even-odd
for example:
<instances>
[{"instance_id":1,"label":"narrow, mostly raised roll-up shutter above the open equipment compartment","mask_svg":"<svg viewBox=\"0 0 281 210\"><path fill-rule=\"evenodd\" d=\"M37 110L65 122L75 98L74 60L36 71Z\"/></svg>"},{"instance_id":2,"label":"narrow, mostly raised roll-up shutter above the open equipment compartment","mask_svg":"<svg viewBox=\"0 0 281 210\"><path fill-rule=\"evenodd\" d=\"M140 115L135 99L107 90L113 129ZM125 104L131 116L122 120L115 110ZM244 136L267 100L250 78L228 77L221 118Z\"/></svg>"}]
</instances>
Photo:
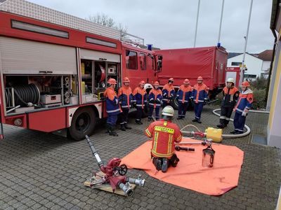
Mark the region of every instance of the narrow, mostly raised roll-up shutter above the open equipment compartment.
<instances>
[{"instance_id":1,"label":"narrow, mostly raised roll-up shutter above the open equipment compartment","mask_svg":"<svg viewBox=\"0 0 281 210\"><path fill-rule=\"evenodd\" d=\"M107 52L98 52L93 50L80 50L80 57L81 59L91 59L91 60L98 60L98 61L106 61L106 62L120 62L120 55L107 53Z\"/></svg>"}]
</instances>

